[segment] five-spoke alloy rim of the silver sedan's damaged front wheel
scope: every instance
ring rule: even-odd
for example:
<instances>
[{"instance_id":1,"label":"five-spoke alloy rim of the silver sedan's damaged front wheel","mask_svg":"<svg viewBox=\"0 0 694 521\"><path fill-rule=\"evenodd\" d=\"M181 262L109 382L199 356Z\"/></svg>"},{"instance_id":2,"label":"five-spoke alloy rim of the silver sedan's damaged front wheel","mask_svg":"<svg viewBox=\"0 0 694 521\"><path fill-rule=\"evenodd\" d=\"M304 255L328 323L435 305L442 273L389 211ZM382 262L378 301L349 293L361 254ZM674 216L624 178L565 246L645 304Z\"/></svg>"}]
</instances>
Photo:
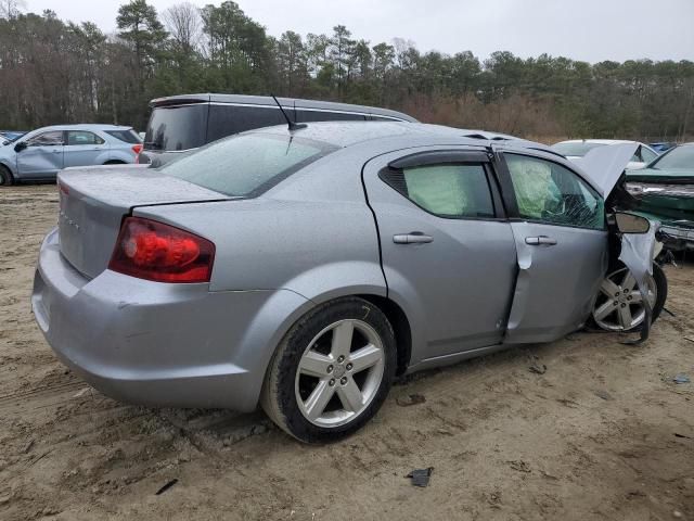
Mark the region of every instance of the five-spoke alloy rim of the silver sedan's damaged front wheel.
<instances>
[{"instance_id":1,"label":"five-spoke alloy rim of the silver sedan's damaged front wheel","mask_svg":"<svg viewBox=\"0 0 694 521\"><path fill-rule=\"evenodd\" d=\"M647 297L655 306L657 289L653 277L647 280ZM607 331L629 331L645 318L643 297L631 271L620 268L603 280L593 307L595 323Z\"/></svg>"}]
</instances>

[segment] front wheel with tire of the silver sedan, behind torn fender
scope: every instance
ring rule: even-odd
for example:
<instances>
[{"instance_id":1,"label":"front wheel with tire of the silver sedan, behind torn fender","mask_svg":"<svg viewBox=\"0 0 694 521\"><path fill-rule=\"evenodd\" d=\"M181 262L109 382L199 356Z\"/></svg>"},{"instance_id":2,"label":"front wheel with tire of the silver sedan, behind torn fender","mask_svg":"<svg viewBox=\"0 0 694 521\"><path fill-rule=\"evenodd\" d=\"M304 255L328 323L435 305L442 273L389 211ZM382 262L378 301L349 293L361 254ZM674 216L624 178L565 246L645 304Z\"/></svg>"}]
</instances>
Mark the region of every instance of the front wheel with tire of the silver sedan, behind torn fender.
<instances>
[{"instance_id":1,"label":"front wheel with tire of the silver sedan, behind torn fender","mask_svg":"<svg viewBox=\"0 0 694 521\"><path fill-rule=\"evenodd\" d=\"M652 322L660 315L668 293L665 272L653 265L653 276L647 281L647 298L653 309ZM643 296L631 271L619 265L607 274L593 305L593 322L606 331L628 332L641 328L645 319Z\"/></svg>"}]
</instances>

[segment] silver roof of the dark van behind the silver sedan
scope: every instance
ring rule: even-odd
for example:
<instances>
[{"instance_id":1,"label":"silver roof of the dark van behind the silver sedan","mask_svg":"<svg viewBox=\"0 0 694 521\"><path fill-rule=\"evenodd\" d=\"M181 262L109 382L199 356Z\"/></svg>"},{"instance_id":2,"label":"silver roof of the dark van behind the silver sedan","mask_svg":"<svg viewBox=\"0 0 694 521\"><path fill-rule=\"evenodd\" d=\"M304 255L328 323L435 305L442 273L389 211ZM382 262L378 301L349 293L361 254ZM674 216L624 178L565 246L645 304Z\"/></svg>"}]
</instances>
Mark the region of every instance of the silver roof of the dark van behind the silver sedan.
<instances>
[{"instance_id":1,"label":"silver roof of the dark van behind the silver sedan","mask_svg":"<svg viewBox=\"0 0 694 521\"><path fill-rule=\"evenodd\" d=\"M389 109L381 109L377 106L355 105L350 103L337 103L332 101L304 100L298 98L278 98L278 100L280 101L280 104L285 109L314 109L334 112L359 112L363 114L395 117L398 119L403 119L406 122L417 123L415 118L409 116L408 114L398 111L391 111ZM150 101L150 106L154 109L157 106L206 102L277 106L274 99L270 96L217 94L211 92L156 98Z\"/></svg>"}]
</instances>

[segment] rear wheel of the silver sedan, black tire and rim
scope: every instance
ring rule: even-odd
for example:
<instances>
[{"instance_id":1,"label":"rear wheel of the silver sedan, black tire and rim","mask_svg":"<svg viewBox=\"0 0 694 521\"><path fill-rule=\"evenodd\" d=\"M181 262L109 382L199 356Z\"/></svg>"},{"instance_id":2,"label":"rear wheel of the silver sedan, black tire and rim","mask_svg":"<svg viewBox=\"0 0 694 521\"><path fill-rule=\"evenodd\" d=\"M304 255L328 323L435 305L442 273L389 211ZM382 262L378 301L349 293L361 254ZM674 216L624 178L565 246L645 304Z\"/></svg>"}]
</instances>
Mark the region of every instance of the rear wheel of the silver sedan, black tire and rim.
<instances>
[{"instance_id":1,"label":"rear wheel of the silver sedan, black tire and rim","mask_svg":"<svg viewBox=\"0 0 694 521\"><path fill-rule=\"evenodd\" d=\"M309 312L286 333L260 403L297 440L332 442L378 411L395 371L395 333L383 312L362 298L340 298Z\"/></svg>"}]
</instances>

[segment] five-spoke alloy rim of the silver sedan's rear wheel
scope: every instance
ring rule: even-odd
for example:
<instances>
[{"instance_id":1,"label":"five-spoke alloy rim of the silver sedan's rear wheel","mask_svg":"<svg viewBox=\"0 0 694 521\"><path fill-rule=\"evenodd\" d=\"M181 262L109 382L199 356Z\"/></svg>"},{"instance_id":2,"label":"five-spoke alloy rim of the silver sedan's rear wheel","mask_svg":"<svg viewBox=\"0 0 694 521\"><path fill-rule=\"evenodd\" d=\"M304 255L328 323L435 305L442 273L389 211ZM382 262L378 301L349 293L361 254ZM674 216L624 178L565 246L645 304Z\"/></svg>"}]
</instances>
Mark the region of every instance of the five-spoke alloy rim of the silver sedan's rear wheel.
<instances>
[{"instance_id":1,"label":"five-spoke alloy rim of the silver sedan's rear wheel","mask_svg":"<svg viewBox=\"0 0 694 521\"><path fill-rule=\"evenodd\" d=\"M301 415L323 428L352 421L378 392L384 365L383 342L367 322L346 319L327 326L309 343L296 371Z\"/></svg>"}]
</instances>

